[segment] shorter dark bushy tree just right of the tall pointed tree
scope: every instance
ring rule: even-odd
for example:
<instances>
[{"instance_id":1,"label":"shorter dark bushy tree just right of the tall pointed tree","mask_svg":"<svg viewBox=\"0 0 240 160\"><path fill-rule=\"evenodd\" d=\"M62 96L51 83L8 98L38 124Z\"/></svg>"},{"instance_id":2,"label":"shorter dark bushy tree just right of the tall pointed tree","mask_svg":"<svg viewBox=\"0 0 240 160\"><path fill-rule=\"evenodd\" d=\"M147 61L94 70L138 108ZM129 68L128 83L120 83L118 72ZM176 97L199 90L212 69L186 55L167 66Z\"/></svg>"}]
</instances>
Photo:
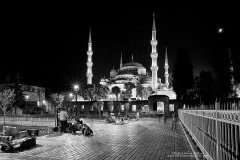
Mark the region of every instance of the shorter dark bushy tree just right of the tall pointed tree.
<instances>
[{"instance_id":1,"label":"shorter dark bushy tree just right of the tall pointed tree","mask_svg":"<svg viewBox=\"0 0 240 160\"><path fill-rule=\"evenodd\" d=\"M216 99L216 84L211 71L201 71L196 78L197 94L201 104L213 104Z\"/></svg>"}]
</instances>

